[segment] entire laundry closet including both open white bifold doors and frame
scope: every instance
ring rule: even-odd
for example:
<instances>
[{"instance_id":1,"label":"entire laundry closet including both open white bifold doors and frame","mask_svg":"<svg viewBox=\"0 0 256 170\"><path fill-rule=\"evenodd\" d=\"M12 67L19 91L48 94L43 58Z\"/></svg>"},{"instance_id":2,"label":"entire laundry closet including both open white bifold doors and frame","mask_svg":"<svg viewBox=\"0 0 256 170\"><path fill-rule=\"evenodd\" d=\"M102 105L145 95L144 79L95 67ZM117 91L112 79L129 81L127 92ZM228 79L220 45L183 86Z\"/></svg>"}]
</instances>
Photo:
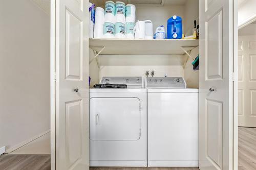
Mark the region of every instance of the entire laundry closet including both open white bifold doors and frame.
<instances>
[{"instance_id":1,"label":"entire laundry closet including both open white bifold doors and frame","mask_svg":"<svg viewBox=\"0 0 256 170\"><path fill-rule=\"evenodd\" d=\"M113 35L113 16L101 22L108 28L103 25L103 36L92 38L97 15L92 34L88 9L103 12L110 2L90 3L51 4L52 164L233 169L236 3L119 3L135 5L134 21L152 23L153 33L164 27L173 39L136 39L143 30L136 24L135 39L122 35L120 23ZM172 34L167 21L176 23Z\"/></svg>"}]
</instances>

